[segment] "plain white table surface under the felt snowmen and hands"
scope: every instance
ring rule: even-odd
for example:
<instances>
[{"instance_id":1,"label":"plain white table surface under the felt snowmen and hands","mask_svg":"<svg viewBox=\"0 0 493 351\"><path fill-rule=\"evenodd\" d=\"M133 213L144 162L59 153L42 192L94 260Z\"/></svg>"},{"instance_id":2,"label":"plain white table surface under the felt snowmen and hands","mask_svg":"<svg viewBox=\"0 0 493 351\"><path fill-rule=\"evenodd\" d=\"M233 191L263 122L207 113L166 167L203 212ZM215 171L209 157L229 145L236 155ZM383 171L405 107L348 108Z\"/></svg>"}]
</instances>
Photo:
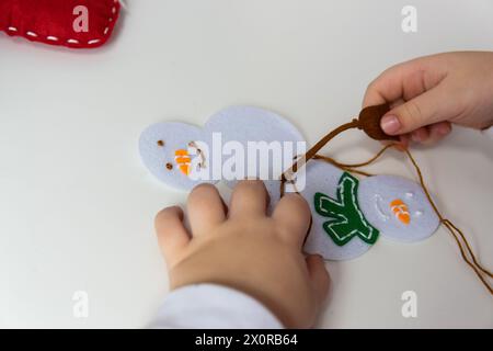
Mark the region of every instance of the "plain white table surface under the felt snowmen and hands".
<instances>
[{"instance_id":1,"label":"plain white table surface under the felt snowmen and hands","mask_svg":"<svg viewBox=\"0 0 493 351\"><path fill-rule=\"evenodd\" d=\"M232 104L274 110L314 143L358 112L394 63L493 49L493 3L474 1L140 0L106 47L69 50L0 33L0 327L144 327L168 290L152 219L186 193L141 165L137 139L169 118L203 124ZM401 9L417 8L417 33ZM354 132L330 155L379 149ZM493 141L457 128L414 149L443 212L493 267ZM374 172L414 177L390 154ZM493 327L493 301L440 228L379 240L329 262L320 327ZM417 294L417 318L401 315ZM89 293L88 318L72 294Z\"/></svg>"}]
</instances>

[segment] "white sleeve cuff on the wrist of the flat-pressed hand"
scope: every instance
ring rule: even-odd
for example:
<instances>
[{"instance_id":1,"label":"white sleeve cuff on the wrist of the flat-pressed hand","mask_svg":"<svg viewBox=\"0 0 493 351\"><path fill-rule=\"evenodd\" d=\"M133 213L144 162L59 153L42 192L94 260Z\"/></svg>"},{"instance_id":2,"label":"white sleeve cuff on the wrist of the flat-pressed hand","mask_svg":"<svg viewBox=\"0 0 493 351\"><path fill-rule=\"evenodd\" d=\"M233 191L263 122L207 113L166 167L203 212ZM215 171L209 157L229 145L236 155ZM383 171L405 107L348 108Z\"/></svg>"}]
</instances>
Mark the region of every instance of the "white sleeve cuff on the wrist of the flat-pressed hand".
<instances>
[{"instance_id":1,"label":"white sleeve cuff on the wrist of the flat-pressed hand","mask_svg":"<svg viewBox=\"0 0 493 351\"><path fill-rule=\"evenodd\" d=\"M222 285L195 284L172 291L150 327L280 329L283 325L245 293Z\"/></svg>"}]
</instances>

